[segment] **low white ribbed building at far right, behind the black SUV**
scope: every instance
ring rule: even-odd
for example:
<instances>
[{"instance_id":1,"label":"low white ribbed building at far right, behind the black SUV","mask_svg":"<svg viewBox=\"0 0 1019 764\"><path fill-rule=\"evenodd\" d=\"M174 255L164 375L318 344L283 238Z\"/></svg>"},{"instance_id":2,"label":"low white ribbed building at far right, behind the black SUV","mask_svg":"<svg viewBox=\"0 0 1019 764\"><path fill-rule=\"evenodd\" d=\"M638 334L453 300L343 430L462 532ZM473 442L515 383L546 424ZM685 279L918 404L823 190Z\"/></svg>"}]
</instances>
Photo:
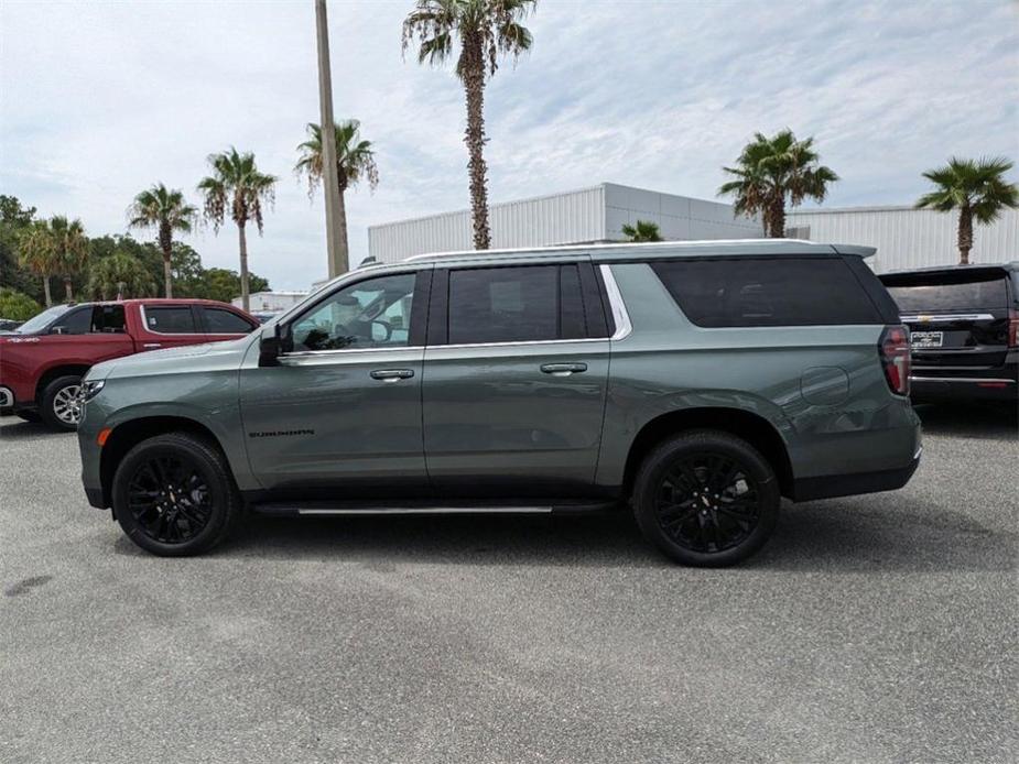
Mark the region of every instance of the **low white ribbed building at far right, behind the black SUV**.
<instances>
[{"instance_id":1,"label":"low white ribbed building at far right, behind the black SUV","mask_svg":"<svg viewBox=\"0 0 1019 764\"><path fill-rule=\"evenodd\" d=\"M958 262L958 214L912 207L795 210L785 221L792 238L877 247L868 263L878 273ZM969 262L1019 260L1019 209L990 226L973 223Z\"/></svg>"}]
</instances>

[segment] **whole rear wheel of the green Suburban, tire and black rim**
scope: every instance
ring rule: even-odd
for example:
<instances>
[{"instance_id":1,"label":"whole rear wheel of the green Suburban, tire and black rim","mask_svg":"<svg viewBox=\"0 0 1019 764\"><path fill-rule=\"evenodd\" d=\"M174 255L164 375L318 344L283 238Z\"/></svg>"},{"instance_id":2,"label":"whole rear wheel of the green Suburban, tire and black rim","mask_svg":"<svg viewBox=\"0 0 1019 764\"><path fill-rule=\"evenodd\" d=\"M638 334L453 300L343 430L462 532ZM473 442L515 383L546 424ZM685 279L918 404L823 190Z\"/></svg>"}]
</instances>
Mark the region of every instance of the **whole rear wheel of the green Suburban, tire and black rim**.
<instances>
[{"instance_id":1,"label":"whole rear wheel of the green Suburban, tire and black rim","mask_svg":"<svg viewBox=\"0 0 1019 764\"><path fill-rule=\"evenodd\" d=\"M768 460L746 440L711 429L659 444L633 484L644 537L673 560L697 567L733 565L760 549L780 504Z\"/></svg>"}]
</instances>

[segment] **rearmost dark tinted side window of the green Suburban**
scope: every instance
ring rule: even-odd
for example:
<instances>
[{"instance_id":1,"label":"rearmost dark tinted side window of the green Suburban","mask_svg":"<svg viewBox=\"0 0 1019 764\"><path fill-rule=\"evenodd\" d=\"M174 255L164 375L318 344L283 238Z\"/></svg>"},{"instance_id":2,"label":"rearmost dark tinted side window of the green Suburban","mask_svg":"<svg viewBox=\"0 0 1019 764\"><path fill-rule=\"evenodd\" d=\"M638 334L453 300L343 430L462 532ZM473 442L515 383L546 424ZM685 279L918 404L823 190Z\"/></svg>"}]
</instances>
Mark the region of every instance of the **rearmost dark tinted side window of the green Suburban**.
<instances>
[{"instance_id":1,"label":"rearmost dark tinted side window of the green Suburban","mask_svg":"<svg viewBox=\"0 0 1019 764\"><path fill-rule=\"evenodd\" d=\"M651 268L697 326L884 323L842 258L677 260Z\"/></svg>"}]
</instances>

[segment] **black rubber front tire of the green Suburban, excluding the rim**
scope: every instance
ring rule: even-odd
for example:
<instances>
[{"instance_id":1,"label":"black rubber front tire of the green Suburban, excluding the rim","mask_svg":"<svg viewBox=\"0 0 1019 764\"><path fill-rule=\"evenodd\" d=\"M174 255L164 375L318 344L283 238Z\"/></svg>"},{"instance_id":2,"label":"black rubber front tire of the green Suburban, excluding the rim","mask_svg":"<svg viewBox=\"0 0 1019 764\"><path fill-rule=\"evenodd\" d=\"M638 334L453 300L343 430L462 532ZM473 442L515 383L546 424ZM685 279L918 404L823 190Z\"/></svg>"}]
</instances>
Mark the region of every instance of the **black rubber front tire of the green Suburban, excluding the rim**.
<instances>
[{"instance_id":1,"label":"black rubber front tire of the green Suburban, excluding the rim","mask_svg":"<svg viewBox=\"0 0 1019 764\"><path fill-rule=\"evenodd\" d=\"M164 557L184 557L198 554L216 544L229 522L229 503L232 487L199 448L188 447L186 441L171 441L167 438L145 440L130 451L117 468L112 483L113 516L123 533L138 546ZM160 456L185 458L192 461L197 472L208 485L210 494L212 517L197 536L181 544L166 544L149 536L141 523L131 513L128 502L128 484L138 468L148 459Z\"/></svg>"}]
</instances>

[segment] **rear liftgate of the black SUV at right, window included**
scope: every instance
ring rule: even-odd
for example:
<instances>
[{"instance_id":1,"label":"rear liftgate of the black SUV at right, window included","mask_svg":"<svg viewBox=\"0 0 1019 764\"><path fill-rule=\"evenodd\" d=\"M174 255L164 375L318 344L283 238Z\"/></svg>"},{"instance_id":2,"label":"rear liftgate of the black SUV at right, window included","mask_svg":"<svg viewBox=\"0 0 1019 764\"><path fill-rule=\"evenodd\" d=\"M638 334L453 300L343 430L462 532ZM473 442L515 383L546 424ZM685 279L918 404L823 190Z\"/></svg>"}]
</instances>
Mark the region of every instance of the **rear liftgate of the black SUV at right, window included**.
<instances>
[{"instance_id":1,"label":"rear liftgate of the black SUV at right, window included","mask_svg":"<svg viewBox=\"0 0 1019 764\"><path fill-rule=\"evenodd\" d=\"M881 281L912 332L914 373L1005 364L1010 301L1004 269L889 274Z\"/></svg>"}]
</instances>

